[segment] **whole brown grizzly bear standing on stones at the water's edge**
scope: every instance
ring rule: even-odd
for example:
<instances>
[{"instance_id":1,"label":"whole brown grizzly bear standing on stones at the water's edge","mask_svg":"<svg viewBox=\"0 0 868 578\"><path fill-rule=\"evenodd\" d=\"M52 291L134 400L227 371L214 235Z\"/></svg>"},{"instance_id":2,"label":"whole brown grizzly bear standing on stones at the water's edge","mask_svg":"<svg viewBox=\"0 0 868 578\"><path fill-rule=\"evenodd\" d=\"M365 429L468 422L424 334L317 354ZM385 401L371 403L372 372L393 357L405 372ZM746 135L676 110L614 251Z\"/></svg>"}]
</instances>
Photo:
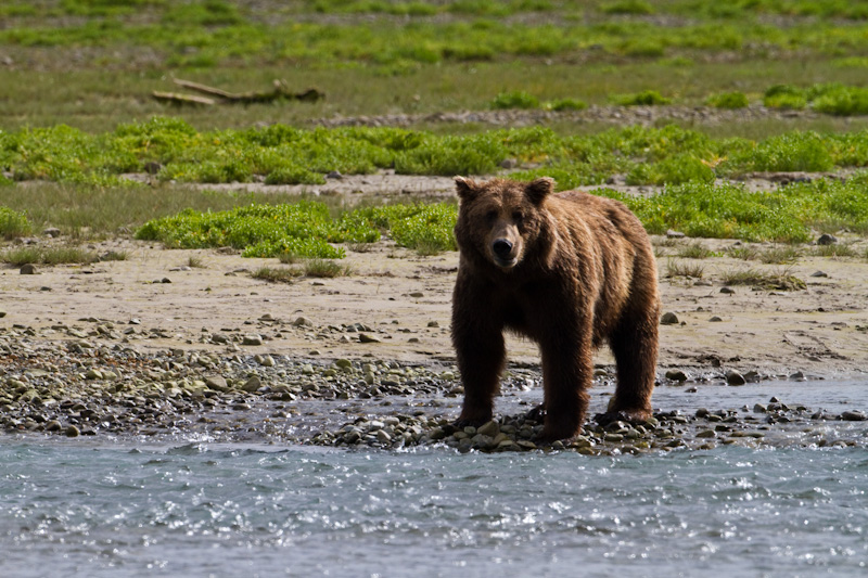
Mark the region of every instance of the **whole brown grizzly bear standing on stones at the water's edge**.
<instances>
[{"instance_id":1,"label":"whole brown grizzly bear standing on stones at the water's edge","mask_svg":"<svg viewBox=\"0 0 868 578\"><path fill-rule=\"evenodd\" d=\"M660 297L654 253L633 213L554 181L456 177L460 252L452 344L464 385L458 427L492 419L506 364L503 331L536 342L542 361L541 439L582 431L593 349L617 363L610 414L651 414Z\"/></svg>"}]
</instances>

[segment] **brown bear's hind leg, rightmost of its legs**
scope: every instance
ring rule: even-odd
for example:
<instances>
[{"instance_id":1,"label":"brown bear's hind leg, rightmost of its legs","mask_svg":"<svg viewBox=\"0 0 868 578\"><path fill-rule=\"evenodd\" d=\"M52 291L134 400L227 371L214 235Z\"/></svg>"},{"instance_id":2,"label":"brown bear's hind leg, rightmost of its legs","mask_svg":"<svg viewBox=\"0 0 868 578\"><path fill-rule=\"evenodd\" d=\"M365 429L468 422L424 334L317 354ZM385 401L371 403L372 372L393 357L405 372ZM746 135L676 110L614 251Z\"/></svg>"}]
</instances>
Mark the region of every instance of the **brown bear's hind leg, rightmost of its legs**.
<instances>
[{"instance_id":1,"label":"brown bear's hind leg, rightmost of its legs","mask_svg":"<svg viewBox=\"0 0 868 578\"><path fill-rule=\"evenodd\" d=\"M609 345L617 364L617 385L608 413L644 421L651 416L651 394L656 372L656 310L641 316L625 316L610 335Z\"/></svg>"}]
</instances>

